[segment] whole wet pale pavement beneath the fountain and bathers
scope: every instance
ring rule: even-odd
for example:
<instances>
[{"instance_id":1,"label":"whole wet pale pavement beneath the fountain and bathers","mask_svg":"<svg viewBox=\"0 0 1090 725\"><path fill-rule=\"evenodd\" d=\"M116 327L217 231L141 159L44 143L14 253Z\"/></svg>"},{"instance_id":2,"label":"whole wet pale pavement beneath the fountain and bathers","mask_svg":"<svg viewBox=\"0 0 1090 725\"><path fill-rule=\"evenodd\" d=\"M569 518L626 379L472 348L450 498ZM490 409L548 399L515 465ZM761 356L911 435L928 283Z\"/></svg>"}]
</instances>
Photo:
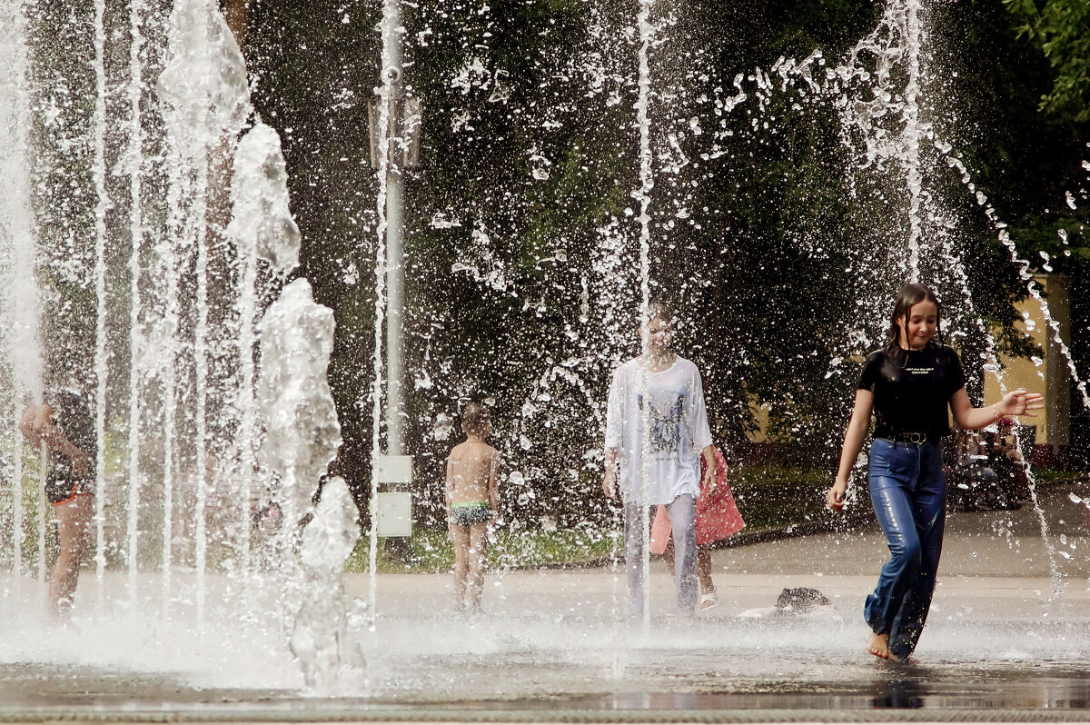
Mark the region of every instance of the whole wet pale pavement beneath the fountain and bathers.
<instances>
[{"instance_id":1,"label":"whole wet pale pavement beneath the fountain and bathers","mask_svg":"<svg viewBox=\"0 0 1090 725\"><path fill-rule=\"evenodd\" d=\"M899 665L862 649L862 600L886 558L870 528L716 551L720 604L691 625L670 616L655 563L650 630L622 616L615 566L492 572L472 618L453 613L449 575L382 576L374 631L362 608L352 617L366 670L322 692L302 687L282 632L216 620L226 579L209 578L217 625L197 637L184 602L172 618L126 608L123 573L101 605L85 577L86 614L62 631L35 619L40 585L9 578L0 721L1090 722L1090 539L1068 493L1044 496L1047 543L1030 507L952 512L929 626ZM365 600L368 578L346 579ZM785 587L833 606L742 616Z\"/></svg>"}]
</instances>

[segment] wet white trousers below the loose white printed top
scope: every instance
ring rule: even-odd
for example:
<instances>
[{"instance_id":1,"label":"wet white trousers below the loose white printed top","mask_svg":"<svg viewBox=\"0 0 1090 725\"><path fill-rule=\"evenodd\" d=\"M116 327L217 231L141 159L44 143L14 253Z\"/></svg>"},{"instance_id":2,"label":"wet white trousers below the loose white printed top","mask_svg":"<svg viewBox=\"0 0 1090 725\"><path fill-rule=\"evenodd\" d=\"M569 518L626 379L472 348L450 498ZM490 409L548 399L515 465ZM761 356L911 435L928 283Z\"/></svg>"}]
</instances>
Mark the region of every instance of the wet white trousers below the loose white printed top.
<instances>
[{"instance_id":1,"label":"wet white trousers below the loose white printed top","mask_svg":"<svg viewBox=\"0 0 1090 725\"><path fill-rule=\"evenodd\" d=\"M674 571L677 613L692 616L697 607L697 503L689 494L666 505L674 530ZM625 503L625 565L628 569L628 613L643 614L643 531L640 506Z\"/></svg>"}]
</instances>

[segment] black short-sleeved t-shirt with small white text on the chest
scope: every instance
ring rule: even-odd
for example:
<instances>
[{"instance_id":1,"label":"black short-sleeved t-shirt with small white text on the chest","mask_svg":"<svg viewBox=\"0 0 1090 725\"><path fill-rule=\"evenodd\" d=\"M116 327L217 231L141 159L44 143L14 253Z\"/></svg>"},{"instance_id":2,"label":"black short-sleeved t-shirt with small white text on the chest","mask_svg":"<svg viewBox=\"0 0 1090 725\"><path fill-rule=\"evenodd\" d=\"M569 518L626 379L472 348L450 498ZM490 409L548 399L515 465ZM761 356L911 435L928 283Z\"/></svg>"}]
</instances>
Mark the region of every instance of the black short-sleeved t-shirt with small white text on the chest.
<instances>
[{"instance_id":1,"label":"black short-sleeved t-shirt with small white text on the chest","mask_svg":"<svg viewBox=\"0 0 1090 725\"><path fill-rule=\"evenodd\" d=\"M949 435L950 396L965 386L953 348L929 342L922 350L886 347L867 357L859 388L874 394L874 437L925 433Z\"/></svg>"}]
</instances>

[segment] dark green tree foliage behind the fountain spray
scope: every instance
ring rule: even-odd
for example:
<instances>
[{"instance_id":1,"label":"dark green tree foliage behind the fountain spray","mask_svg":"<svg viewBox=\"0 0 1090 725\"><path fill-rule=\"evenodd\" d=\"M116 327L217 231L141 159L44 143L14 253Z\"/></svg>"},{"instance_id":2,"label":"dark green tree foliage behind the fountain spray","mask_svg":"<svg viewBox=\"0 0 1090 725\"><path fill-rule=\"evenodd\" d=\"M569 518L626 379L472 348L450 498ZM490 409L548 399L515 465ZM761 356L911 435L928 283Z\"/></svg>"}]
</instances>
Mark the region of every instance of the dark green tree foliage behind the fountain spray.
<instances>
[{"instance_id":1,"label":"dark green tree foliage behind the fountain spray","mask_svg":"<svg viewBox=\"0 0 1090 725\"><path fill-rule=\"evenodd\" d=\"M1063 2L929 3L923 112L1022 256L1039 264L1043 250L1073 280L1082 361L1090 82L1080 2L1068 0L1074 15ZM905 193L895 172L846 172L853 159L828 99L791 87L734 110L724 101L737 74L768 72L780 57L821 50L836 64L882 10L697 0L655 11L652 292L682 311L679 349L703 371L716 438L736 462L764 406L772 439L796 460L831 466L851 358L881 340L901 281ZM405 181L405 438L422 510L435 513L457 438L436 422L457 424L472 399L493 404L506 473L518 473L505 487L512 518L585 519L604 510L597 449L609 374L638 351L635 3L463 0L403 11L408 90L425 109L421 167ZM377 3L255 0L245 47L255 106L283 140L303 231L299 274L336 313L330 383L361 503L377 243L366 99L379 83L378 21ZM751 80L742 87L752 95ZM942 209L930 228L956 228L977 313L1002 329L1004 349L1028 352L1013 324L1012 304L1026 295L1017 267L960 174L933 148L924 155ZM949 270L928 265L924 281L957 307ZM950 321L964 351L981 349L964 311ZM979 396L981 372L969 367ZM1081 403L1073 411L1073 440L1086 440Z\"/></svg>"}]
</instances>

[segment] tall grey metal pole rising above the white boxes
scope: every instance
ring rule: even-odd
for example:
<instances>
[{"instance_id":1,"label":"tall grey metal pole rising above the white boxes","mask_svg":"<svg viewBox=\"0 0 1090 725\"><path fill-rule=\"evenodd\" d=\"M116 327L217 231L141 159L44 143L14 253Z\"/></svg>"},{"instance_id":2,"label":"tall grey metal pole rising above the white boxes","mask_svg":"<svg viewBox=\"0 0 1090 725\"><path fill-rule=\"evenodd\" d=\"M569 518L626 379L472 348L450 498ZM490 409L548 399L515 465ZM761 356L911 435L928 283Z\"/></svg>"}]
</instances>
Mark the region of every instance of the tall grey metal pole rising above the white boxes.
<instances>
[{"instance_id":1,"label":"tall grey metal pole rising above the white boxes","mask_svg":"<svg viewBox=\"0 0 1090 725\"><path fill-rule=\"evenodd\" d=\"M388 14L387 14L388 13ZM399 0L387 0L384 13L391 22L386 28L383 44L386 46L388 65L385 72L390 80L389 118L390 145L386 167L386 452L401 456L403 403L401 400L401 322L404 304L404 254L402 240L404 220L402 215L402 65L401 65L401 5ZM396 136L396 137L395 137Z\"/></svg>"}]
</instances>

